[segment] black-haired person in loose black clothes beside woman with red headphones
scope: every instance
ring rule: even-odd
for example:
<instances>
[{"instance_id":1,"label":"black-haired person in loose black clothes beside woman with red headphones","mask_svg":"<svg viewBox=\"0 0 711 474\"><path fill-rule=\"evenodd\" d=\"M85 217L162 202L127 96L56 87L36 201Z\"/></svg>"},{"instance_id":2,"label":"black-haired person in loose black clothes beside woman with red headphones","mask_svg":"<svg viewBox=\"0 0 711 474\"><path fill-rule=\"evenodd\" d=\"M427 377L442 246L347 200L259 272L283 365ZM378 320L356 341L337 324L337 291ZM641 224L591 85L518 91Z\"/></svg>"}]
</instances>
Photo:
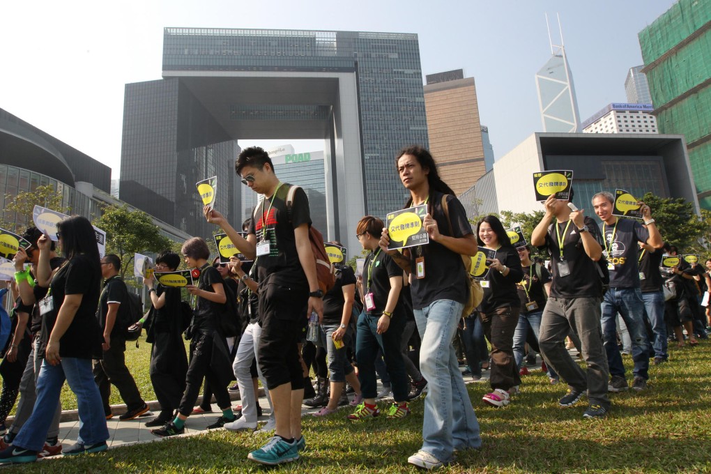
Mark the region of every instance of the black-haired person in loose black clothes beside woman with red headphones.
<instances>
[{"instance_id":1,"label":"black-haired person in loose black clothes beside woman with red headphones","mask_svg":"<svg viewBox=\"0 0 711 474\"><path fill-rule=\"evenodd\" d=\"M176 271L180 257L165 250L156 257L155 271ZM146 426L163 426L173 419L185 392L188 356L183 343L183 308L181 289L158 285L153 274L144 278L151 298L151 312L146 323L146 343L152 343L150 375L161 412Z\"/></svg>"}]
</instances>

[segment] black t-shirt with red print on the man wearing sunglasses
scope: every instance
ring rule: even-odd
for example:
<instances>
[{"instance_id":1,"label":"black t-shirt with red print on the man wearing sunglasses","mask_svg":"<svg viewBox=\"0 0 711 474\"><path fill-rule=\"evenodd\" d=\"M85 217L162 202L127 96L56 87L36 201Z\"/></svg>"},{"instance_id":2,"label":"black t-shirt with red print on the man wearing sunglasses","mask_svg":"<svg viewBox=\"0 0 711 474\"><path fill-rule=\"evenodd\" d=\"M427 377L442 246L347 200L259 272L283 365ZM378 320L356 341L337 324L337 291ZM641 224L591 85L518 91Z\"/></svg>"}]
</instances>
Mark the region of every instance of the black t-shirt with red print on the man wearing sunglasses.
<instances>
[{"instance_id":1,"label":"black t-shirt with red print on the man wearing sunglasses","mask_svg":"<svg viewBox=\"0 0 711 474\"><path fill-rule=\"evenodd\" d=\"M269 241L269 254L257 257L257 275L260 286L267 284L267 276L275 276L278 281L304 282L308 286L306 274L299 262L296 252L296 237L294 229L302 224L311 225L309 215L309 198L304 190L299 188L294 193L291 212L287 210L287 194L291 185L282 183L269 199L262 199L252 212L252 224L248 234L257 237L257 244L265 238ZM274 281L274 280L272 280Z\"/></svg>"}]
</instances>

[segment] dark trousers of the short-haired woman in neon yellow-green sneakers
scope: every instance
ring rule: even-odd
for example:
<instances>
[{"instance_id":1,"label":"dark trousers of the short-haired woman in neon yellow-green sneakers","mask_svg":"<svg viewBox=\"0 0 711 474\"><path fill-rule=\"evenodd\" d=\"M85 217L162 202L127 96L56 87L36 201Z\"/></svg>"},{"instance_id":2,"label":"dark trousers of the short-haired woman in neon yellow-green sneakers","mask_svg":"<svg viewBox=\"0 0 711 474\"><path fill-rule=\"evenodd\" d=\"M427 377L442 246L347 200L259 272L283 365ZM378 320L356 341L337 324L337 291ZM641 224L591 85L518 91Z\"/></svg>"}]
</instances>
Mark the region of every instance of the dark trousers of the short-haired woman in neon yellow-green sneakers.
<instances>
[{"instance_id":1,"label":"dark trousers of the short-haired woman in neon yellow-green sneakers","mask_svg":"<svg viewBox=\"0 0 711 474\"><path fill-rule=\"evenodd\" d=\"M406 402L410 394L410 382L405 373L405 362L400 352L400 338L405 327L405 317L396 314L390 319L390 326L383 334L378 334L380 316L370 316L365 312L358 317L358 339L355 345L355 358L358 360L358 378L363 398L375 398L378 385L375 382L375 357L378 348L383 351L385 367L390 375L392 397L395 402Z\"/></svg>"}]
</instances>

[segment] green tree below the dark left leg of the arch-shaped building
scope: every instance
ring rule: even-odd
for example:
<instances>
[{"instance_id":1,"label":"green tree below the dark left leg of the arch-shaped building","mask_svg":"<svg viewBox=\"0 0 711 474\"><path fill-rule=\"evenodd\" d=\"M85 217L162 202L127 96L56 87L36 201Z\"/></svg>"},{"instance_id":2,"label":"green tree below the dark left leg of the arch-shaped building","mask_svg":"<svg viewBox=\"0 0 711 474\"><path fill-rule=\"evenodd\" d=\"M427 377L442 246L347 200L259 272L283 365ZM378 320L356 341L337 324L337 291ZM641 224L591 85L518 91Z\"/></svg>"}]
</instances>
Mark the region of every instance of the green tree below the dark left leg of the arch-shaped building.
<instances>
[{"instance_id":1,"label":"green tree below the dark left leg of the arch-shaped building","mask_svg":"<svg viewBox=\"0 0 711 474\"><path fill-rule=\"evenodd\" d=\"M160 234L158 226L146 212L129 210L125 204L104 208L94 225L106 232L106 252L117 254L121 259L122 277L129 269L133 274L135 253L161 252L173 247L171 240Z\"/></svg>"}]
</instances>

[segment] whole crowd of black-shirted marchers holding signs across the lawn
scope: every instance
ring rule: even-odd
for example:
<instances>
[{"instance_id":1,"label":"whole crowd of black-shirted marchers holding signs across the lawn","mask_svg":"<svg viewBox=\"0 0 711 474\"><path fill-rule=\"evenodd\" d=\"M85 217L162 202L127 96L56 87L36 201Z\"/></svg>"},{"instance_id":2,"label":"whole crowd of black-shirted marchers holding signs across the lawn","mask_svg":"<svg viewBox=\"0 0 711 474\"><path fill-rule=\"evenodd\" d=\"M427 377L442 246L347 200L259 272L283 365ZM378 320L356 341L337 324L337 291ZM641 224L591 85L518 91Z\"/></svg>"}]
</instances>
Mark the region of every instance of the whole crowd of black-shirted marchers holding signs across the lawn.
<instances>
[{"instance_id":1,"label":"whole crowd of black-shirted marchers holding signs across the lawn","mask_svg":"<svg viewBox=\"0 0 711 474\"><path fill-rule=\"evenodd\" d=\"M50 236L28 228L22 237L31 245L14 257L12 334L0 364L0 463L105 450L112 385L126 404L120 419L146 415L124 358L130 331L141 327L159 404L144 424L156 436L183 433L191 414L213 410L213 397L220 416L209 429L255 431L261 384L271 410L260 431L273 436L247 457L277 465L298 459L307 446L302 404L319 409L318 417L341 416L339 406L352 406L344 423L378 416L396 423L413 415L409 402L427 391L423 412L415 413L422 416L422 447L407 462L428 470L481 446L466 375L478 381L490 370L491 392L482 402L504 407L525 389L525 361L535 362L538 352L550 383L567 384L560 406L587 397L583 417L596 419L611 409L609 393L630 387L624 353L634 362L631 388L643 391L653 389L649 365L668 361L669 340L681 347L707 338L711 313L701 296L711 293L711 259L705 267L683 259L663 266L678 249L663 242L644 203L642 222L619 218L614 196L597 193L597 223L572 205L572 188L566 200L550 195L530 244L514 247L493 215L472 227L426 149L403 149L395 169L410 193L405 208L427 207L422 228L429 243L389 249L383 221L366 215L353 229L367 254L362 271L338 265L324 275L306 193L279 181L264 150L245 149L235 172L259 200L242 232L218 210L204 209L245 259L210 261L205 240L188 239L181 254L195 284L183 292L146 276L149 311L138 322L119 276L121 260L100 257L88 220L58 223L60 253ZM480 249L489 252L488 273L472 284L464 262ZM180 265L181 257L166 250L154 270ZM464 313L477 287L481 302ZM237 334L229 325L235 318ZM77 397L80 429L77 443L63 448L65 381ZM240 392L235 409L230 390ZM390 394L392 401L383 402Z\"/></svg>"}]
</instances>

